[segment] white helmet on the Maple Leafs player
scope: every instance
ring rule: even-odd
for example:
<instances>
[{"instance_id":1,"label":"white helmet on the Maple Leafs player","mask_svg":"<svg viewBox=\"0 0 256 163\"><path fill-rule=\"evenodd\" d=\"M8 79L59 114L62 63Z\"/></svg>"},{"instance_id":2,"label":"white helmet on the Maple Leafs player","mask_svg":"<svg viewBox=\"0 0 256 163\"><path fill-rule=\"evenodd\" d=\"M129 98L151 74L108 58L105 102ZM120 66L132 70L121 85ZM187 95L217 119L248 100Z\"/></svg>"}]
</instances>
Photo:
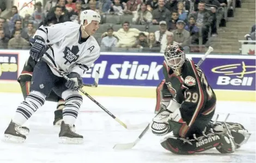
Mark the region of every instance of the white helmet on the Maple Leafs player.
<instances>
[{"instance_id":1,"label":"white helmet on the Maple Leafs player","mask_svg":"<svg viewBox=\"0 0 256 163\"><path fill-rule=\"evenodd\" d=\"M87 20L88 24L90 24L92 21L100 22L101 17L96 11L84 10L80 14L80 24L83 25L85 20Z\"/></svg>"}]
</instances>

